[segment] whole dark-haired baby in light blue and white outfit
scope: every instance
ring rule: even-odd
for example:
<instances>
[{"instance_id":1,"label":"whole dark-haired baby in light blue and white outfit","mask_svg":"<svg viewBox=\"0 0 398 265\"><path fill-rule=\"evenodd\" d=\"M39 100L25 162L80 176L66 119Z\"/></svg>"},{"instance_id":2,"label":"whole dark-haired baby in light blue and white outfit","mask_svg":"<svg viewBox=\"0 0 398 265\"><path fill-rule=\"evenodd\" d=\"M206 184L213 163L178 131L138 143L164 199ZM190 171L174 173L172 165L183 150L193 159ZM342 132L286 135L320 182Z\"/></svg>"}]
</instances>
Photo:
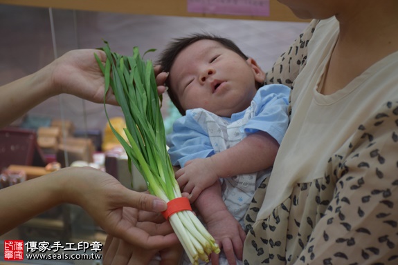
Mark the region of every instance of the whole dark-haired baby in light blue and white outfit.
<instances>
[{"instance_id":1,"label":"whole dark-haired baby in light blue and white outfit","mask_svg":"<svg viewBox=\"0 0 398 265\"><path fill-rule=\"evenodd\" d=\"M290 88L262 86L256 61L215 35L176 39L159 64L183 115L168 135L177 181L223 248L219 264L242 264L243 217L287 129Z\"/></svg>"}]
</instances>

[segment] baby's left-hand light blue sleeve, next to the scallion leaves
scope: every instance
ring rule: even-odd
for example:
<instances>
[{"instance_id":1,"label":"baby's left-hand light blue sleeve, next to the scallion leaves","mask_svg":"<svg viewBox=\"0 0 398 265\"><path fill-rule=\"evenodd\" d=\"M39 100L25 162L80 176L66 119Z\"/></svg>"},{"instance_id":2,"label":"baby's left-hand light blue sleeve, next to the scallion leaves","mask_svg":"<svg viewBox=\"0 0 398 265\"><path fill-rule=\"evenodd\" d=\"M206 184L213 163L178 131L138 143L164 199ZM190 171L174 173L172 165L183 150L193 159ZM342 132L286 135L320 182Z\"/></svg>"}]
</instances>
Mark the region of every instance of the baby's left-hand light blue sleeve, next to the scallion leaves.
<instances>
[{"instance_id":1,"label":"baby's left-hand light blue sleeve, next to the scallion leaves","mask_svg":"<svg viewBox=\"0 0 398 265\"><path fill-rule=\"evenodd\" d=\"M173 166L183 167L189 160L214 155L208 134L192 118L189 110L186 116L174 122L172 133L166 140Z\"/></svg>"}]
</instances>

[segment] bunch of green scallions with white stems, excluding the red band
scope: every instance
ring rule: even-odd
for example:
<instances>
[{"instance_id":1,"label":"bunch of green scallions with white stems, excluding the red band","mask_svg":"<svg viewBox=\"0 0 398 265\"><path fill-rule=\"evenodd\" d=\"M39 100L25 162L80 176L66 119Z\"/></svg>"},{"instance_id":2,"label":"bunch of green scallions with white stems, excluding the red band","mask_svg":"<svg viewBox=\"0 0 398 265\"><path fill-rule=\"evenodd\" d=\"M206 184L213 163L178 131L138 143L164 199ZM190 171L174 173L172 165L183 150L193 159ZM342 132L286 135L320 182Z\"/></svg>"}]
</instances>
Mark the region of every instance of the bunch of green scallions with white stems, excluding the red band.
<instances>
[{"instance_id":1,"label":"bunch of green scallions with white stems, excluding the red band","mask_svg":"<svg viewBox=\"0 0 398 265\"><path fill-rule=\"evenodd\" d=\"M128 142L116 132L109 121L105 105L105 114L109 126L129 158L129 170L132 162L143 175L147 188L165 202L181 197L174 170L168 155L165 128L161 115L161 96L158 95L154 68L150 60L143 61L138 47L134 47L131 57L111 52L105 41L102 50L107 55L105 66L97 55L96 60L105 76L105 94L109 86L123 110ZM154 50L148 50L152 52ZM145 52L145 54L147 53ZM145 55L144 54L144 55ZM215 239L190 210L175 213L169 218L190 262L198 264L199 259L208 262L210 253L219 253Z\"/></svg>"}]
</instances>

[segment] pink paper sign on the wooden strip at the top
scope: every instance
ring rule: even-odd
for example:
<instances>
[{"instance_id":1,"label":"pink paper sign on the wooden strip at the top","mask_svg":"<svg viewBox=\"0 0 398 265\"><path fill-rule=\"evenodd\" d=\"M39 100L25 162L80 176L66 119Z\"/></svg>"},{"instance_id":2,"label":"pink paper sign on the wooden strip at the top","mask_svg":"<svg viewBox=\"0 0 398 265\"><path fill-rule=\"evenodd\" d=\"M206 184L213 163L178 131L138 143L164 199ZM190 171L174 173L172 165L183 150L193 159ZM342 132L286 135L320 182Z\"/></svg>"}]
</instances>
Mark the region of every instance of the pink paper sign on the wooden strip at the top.
<instances>
[{"instance_id":1,"label":"pink paper sign on the wooden strip at the top","mask_svg":"<svg viewBox=\"0 0 398 265\"><path fill-rule=\"evenodd\" d=\"M187 0L188 12L269 16L269 0Z\"/></svg>"}]
</instances>

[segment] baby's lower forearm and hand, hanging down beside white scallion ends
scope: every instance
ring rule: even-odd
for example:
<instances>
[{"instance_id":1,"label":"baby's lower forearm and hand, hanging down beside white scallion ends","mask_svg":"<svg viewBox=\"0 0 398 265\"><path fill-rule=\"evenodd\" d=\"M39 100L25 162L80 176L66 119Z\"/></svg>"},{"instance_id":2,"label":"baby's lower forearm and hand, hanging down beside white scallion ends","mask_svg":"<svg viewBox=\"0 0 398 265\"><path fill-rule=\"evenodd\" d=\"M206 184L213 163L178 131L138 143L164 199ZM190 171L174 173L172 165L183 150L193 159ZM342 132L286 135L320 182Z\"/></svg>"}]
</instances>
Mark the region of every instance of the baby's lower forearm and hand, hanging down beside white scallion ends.
<instances>
[{"instance_id":1,"label":"baby's lower forearm and hand, hanging down beside white scallion ends","mask_svg":"<svg viewBox=\"0 0 398 265\"><path fill-rule=\"evenodd\" d=\"M228 264L236 264L236 257L242 260L246 233L226 208L221 198L219 181L203 190L196 200L195 206L203 217L208 232L215 238L219 247L224 250ZM219 255L212 253L212 264L218 264L218 259Z\"/></svg>"}]
</instances>

